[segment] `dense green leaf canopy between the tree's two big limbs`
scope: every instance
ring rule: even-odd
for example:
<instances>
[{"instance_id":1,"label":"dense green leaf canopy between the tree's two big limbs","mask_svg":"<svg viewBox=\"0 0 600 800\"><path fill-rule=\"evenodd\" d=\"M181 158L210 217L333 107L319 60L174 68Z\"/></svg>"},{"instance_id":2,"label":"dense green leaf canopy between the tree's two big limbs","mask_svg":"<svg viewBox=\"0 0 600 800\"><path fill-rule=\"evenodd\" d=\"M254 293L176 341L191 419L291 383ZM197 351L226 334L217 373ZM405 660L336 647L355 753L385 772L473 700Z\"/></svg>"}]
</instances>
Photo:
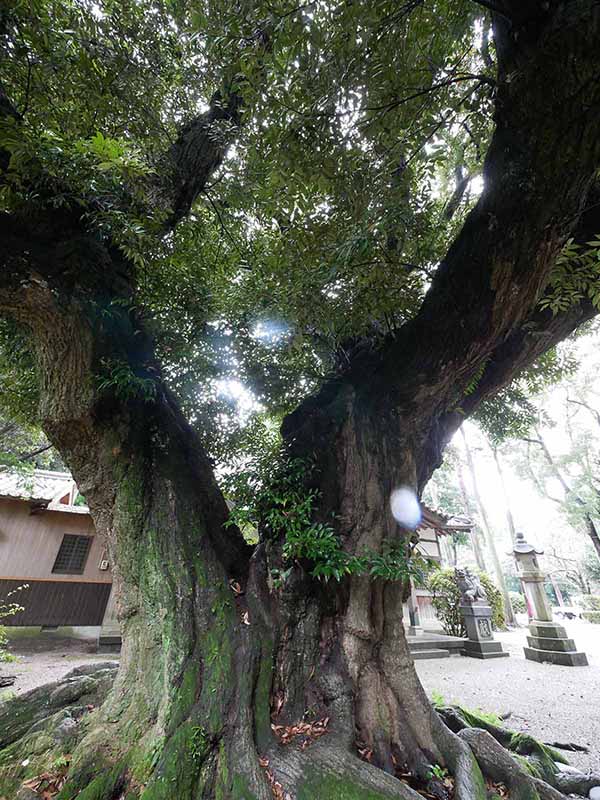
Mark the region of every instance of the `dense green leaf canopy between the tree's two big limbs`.
<instances>
[{"instance_id":1,"label":"dense green leaf canopy between the tree's two big limbs","mask_svg":"<svg viewBox=\"0 0 600 800\"><path fill-rule=\"evenodd\" d=\"M247 46L257 29L266 56ZM2 208L40 183L38 206L81 203L135 261L134 302L217 457L238 428L221 381L289 411L414 314L490 134L493 46L468 3L37 0L9 3L0 36L18 114L0 130ZM243 96L239 141L165 238L162 154L223 81ZM32 418L24 381L13 404Z\"/></svg>"}]
</instances>

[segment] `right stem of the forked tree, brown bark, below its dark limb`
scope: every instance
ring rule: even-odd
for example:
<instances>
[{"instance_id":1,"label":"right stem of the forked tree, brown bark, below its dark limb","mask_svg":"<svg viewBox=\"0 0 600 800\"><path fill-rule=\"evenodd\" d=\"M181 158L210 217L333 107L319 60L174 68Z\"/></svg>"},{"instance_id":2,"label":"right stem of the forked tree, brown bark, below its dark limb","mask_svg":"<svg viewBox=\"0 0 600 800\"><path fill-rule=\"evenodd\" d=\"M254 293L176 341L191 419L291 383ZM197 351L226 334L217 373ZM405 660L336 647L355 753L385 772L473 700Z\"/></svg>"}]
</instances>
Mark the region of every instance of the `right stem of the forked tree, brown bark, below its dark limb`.
<instances>
[{"instance_id":1,"label":"right stem of the forked tree, brown bark, below its dark limb","mask_svg":"<svg viewBox=\"0 0 600 800\"><path fill-rule=\"evenodd\" d=\"M403 420L386 401L377 403L348 384L319 400L322 404L308 404L288 417L283 428L288 455L310 464L309 487L319 492L319 519L335 518L336 533L350 555L381 553L386 545L409 548L411 534L393 518L390 496L400 486L417 491L419 442L411 418ZM307 580L299 564L292 581L294 574ZM440 725L416 675L402 621L407 590L406 579L370 575L351 575L316 594L305 583L305 597L322 598L311 602L307 613L312 638L319 642L319 666L293 661L287 669L278 666L276 675L285 675L275 685L283 701L280 713L297 718L318 698L323 713L333 707L344 720L345 745L360 749L373 764L391 773L408 769L426 782L432 764L455 768L460 763L464 786L459 796L482 796L470 751ZM289 615L289 648L298 652L306 629L297 624L296 596L290 593L282 610ZM307 667L308 682L290 681L287 670ZM290 692L290 685L301 688Z\"/></svg>"}]
</instances>

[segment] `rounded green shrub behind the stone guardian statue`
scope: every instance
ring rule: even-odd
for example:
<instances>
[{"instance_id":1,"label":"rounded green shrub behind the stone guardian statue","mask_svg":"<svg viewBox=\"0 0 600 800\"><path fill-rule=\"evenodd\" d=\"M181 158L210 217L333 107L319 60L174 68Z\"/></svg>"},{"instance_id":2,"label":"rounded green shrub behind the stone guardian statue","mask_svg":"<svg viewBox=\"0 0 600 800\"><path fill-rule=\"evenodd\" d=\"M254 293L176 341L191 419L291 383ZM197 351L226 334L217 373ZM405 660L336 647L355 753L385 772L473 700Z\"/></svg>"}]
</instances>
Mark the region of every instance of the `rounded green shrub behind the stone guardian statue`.
<instances>
[{"instance_id":1,"label":"rounded green shrub behind the stone guardian statue","mask_svg":"<svg viewBox=\"0 0 600 800\"><path fill-rule=\"evenodd\" d=\"M500 590L485 572L477 574L492 608L493 628L495 630L506 628ZM428 576L427 588L432 594L431 602L444 632L449 636L465 636L466 631L460 613L460 589L454 570L434 570Z\"/></svg>"}]
</instances>

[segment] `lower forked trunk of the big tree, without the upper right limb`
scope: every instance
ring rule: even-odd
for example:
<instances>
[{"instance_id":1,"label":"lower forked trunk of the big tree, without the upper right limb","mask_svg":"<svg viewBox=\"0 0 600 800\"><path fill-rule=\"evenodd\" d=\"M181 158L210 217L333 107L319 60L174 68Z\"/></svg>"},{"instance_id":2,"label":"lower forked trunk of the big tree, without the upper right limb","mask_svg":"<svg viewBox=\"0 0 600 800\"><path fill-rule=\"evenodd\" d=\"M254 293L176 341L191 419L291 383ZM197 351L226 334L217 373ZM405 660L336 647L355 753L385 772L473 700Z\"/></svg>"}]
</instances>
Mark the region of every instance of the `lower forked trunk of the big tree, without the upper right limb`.
<instances>
[{"instance_id":1,"label":"lower forked trunk of the big tree, without the upper right limb","mask_svg":"<svg viewBox=\"0 0 600 800\"><path fill-rule=\"evenodd\" d=\"M252 555L224 526L208 459L125 305L98 318L40 284L20 312L33 333L43 426L106 540L123 632L118 677L61 797L268 800L276 780L293 798L416 798L399 769L426 782L434 764L460 763L459 796L483 798L471 751L416 676L401 582L324 584L294 564L273 587L281 543ZM107 374L108 364L120 368ZM319 473L323 496L344 546L377 551L401 536L387 509L394 486L415 485L411 449L389 436L389 416L365 416L352 395L342 419L331 428L335 469ZM313 742L309 732L310 747L282 743L315 721L326 733Z\"/></svg>"}]
</instances>

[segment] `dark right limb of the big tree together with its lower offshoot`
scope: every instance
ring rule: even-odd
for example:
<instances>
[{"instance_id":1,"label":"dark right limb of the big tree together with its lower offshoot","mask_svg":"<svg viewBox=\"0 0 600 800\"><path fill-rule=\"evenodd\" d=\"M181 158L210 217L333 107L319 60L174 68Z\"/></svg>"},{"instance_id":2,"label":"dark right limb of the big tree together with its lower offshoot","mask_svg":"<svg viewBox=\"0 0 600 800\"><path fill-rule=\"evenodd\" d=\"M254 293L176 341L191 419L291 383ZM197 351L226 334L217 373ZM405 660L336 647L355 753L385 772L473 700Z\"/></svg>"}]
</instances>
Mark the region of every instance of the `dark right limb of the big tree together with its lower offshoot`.
<instances>
[{"instance_id":1,"label":"dark right limb of the big tree together with its lower offshoot","mask_svg":"<svg viewBox=\"0 0 600 800\"><path fill-rule=\"evenodd\" d=\"M586 300L554 317L537 310L564 242L586 203L594 206L600 164L600 7L553 5L543 16L546 24L516 39L495 20L496 130L485 190L416 317L383 342L355 346L341 374L286 419L286 438L322 439L325 409L350 389L382 412L412 414L422 486L465 416L597 313Z\"/></svg>"}]
</instances>

